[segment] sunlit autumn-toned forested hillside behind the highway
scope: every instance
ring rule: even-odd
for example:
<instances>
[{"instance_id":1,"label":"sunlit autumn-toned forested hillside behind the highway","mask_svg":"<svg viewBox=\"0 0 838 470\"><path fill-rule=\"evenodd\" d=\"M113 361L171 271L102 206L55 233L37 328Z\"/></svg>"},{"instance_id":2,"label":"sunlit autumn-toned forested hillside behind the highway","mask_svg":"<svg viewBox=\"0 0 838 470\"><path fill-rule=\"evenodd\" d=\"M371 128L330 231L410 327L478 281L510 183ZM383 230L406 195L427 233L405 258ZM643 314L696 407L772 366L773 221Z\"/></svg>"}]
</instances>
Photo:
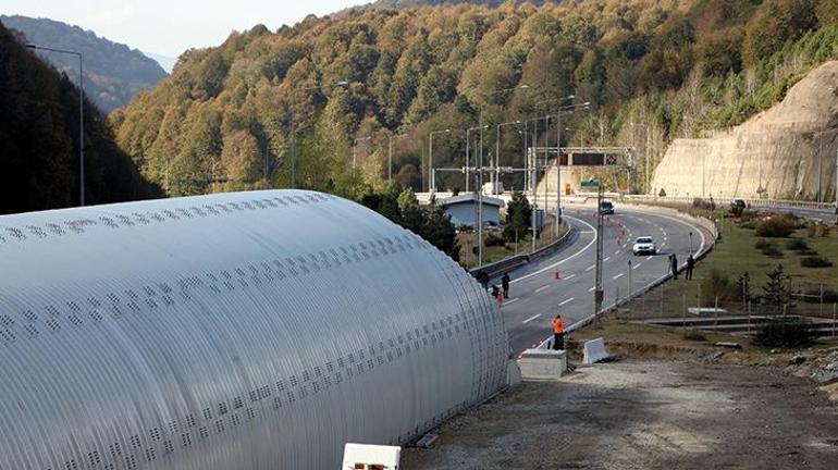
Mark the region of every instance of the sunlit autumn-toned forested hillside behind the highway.
<instances>
[{"instance_id":1,"label":"sunlit autumn-toned forested hillside behind the highway","mask_svg":"<svg viewBox=\"0 0 838 470\"><path fill-rule=\"evenodd\" d=\"M563 145L636 145L643 189L673 138L741 123L837 58L837 17L834 0L362 8L189 50L111 120L172 195L285 187L296 161L298 186L359 199L386 186L391 141L394 178L420 190L432 131L452 129L435 136L434 163L460 166L464 129L481 114L494 152L495 123L555 112L540 102L575 95L591 110L564 118ZM543 123L537 138L555 141ZM504 127L506 164L522 164L521 131ZM463 176L438 186L461 188Z\"/></svg>"}]
</instances>

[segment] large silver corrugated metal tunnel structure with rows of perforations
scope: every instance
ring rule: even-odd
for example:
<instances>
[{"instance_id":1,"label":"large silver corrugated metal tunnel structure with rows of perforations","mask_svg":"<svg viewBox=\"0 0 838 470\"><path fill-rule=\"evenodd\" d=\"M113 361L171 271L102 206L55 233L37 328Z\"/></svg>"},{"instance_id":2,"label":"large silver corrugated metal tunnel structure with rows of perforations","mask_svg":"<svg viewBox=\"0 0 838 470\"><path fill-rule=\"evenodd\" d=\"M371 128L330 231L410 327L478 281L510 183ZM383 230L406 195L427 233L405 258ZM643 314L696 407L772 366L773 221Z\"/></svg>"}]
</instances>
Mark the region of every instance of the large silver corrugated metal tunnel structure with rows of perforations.
<instances>
[{"instance_id":1,"label":"large silver corrugated metal tunnel structure with rows of perforations","mask_svg":"<svg viewBox=\"0 0 838 470\"><path fill-rule=\"evenodd\" d=\"M301 190L0 217L0 469L336 469L503 386L500 311Z\"/></svg>"}]
</instances>

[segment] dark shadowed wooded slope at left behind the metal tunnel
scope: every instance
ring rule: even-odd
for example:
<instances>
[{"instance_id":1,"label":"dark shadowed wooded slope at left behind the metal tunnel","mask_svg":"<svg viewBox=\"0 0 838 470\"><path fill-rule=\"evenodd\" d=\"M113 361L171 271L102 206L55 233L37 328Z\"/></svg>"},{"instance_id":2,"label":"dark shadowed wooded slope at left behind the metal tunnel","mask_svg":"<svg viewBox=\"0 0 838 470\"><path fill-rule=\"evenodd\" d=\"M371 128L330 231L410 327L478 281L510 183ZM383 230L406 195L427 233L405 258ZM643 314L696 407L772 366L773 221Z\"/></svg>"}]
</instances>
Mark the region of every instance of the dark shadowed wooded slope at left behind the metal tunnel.
<instances>
[{"instance_id":1,"label":"dark shadowed wooded slope at left behind the metal tunnel","mask_svg":"<svg viewBox=\"0 0 838 470\"><path fill-rule=\"evenodd\" d=\"M0 213L78 205L78 88L0 25ZM87 203L160 194L85 103Z\"/></svg>"}]
</instances>

